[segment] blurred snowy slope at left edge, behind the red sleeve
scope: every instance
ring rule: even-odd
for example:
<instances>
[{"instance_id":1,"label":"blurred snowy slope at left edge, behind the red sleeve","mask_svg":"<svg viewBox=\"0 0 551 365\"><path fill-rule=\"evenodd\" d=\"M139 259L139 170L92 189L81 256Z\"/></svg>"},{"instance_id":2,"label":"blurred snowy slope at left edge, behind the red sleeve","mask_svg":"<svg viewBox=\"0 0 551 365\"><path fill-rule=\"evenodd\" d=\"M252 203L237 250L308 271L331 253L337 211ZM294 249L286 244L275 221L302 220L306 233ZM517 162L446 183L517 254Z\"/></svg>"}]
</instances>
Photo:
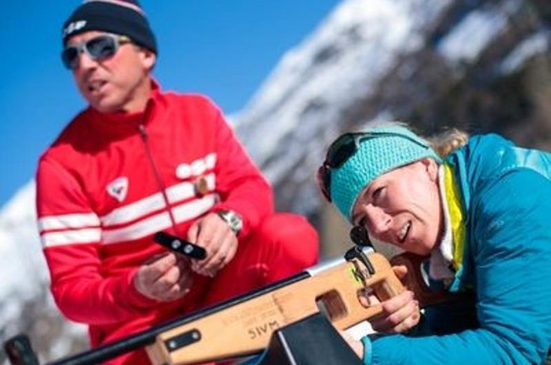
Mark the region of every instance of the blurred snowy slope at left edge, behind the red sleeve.
<instances>
[{"instance_id":1,"label":"blurred snowy slope at left edge, behind the red sleeve","mask_svg":"<svg viewBox=\"0 0 551 365\"><path fill-rule=\"evenodd\" d=\"M31 181L0 211L0 340L24 331L41 356L51 359L66 355L75 343L85 346L85 327L63 320L48 291L34 196Z\"/></svg>"}]
</instances>

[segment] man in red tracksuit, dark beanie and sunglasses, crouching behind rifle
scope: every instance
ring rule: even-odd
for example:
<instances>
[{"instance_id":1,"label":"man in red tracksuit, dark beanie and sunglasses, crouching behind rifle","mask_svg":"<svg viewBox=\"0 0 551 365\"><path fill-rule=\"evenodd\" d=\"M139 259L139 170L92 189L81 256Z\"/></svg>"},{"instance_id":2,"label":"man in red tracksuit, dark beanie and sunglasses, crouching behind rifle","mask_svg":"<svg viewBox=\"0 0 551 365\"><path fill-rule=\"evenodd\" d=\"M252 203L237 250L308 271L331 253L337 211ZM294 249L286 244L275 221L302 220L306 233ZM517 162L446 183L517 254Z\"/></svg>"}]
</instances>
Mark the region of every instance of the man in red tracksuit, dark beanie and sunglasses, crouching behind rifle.
<instances>
[{"instance_id":1,"label":"man in red tracksuit, dark beanie and sunglasses, crouching behind rifle","mask_svg":"<svg viewBox=\"0 0 551 365\"><path fill-rule=\"evenodd\" d=\"M89 104L41 156L39 230L63 314L92 346L302 271L308 222L273 213L267 180L208 98L162 92L137 1L89 0L63 27L63 63ZM167 231L205 248L189 260ZM135 351L110 364L149 364Z\"/></svg>"}]
</instances>

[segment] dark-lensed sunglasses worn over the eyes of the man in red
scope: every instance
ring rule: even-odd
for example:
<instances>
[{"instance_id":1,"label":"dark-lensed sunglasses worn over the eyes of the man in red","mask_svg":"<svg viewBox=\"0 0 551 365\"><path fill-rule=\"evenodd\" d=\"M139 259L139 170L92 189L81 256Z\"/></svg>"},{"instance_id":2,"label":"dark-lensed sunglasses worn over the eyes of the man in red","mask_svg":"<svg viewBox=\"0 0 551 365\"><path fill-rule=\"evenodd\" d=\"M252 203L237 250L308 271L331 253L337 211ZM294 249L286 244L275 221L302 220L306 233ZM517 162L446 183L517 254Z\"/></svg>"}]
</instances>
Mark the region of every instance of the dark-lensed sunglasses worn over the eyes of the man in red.
<instances>
[{"instance_id":1,"label":"dark-lensed sunglasses worn over the eyes of the man in red","mask_svg":"<svg viewBox=\"0 0 551 365\"><path fill-rule=\"evenodd\" d=\"M67 69L74 70L79 65L79 56L82 52L94 61L103 61L111 58L125 43L132 43L132 41L127 36L101 34L77 45L65 47L61 52L61 61Z\"/></svg>"}]
</instances>

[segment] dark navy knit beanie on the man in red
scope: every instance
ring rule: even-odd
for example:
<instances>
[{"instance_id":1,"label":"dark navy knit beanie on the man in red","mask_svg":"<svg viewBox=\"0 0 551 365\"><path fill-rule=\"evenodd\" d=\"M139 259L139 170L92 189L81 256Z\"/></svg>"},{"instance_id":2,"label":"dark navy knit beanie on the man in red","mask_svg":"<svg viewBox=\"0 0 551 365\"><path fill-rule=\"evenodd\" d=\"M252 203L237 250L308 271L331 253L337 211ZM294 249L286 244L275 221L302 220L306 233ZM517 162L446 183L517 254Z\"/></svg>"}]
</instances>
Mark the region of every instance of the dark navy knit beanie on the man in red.
<instances>
[{"instance_id":1,"label":"dark navy knit beanie on the man in red","mask_svg":"<svg viewBox=\"0 0 551 365\"><path fill-rule=\"evenodd\" d=\"M155 54L157 43L138 1L85 0L63 24L63 46L76 34L89 30L103 30L128 36Z\"/></svg>"}]
</instances>

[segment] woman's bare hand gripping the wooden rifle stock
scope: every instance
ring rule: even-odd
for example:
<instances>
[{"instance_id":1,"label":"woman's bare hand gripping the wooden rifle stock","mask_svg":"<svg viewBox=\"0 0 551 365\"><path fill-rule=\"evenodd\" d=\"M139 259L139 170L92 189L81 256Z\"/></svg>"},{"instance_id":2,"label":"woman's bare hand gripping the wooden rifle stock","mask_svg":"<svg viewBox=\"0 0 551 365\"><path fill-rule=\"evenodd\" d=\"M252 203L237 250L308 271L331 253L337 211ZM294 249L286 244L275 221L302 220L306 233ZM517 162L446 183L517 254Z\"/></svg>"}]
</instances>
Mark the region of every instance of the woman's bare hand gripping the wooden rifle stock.
<instances>
[{"instance_id":1,"label":"woman's bare hand gripping the wooden rifle stock","mask_svg":"<svg viewBox=\"0 0 551 365\"><path fill-rule=\"evenodd\" d=\"M399 279L404 278L408 269L405 266L393 267ZM364 306L379 303L375 295L360 297ZM381 333L404 333L419 323L419 302L415 300L413 291L404 291L394 298L381 303L382 313L369 320L373 329Z\"/></svg>"}]
</instances>

